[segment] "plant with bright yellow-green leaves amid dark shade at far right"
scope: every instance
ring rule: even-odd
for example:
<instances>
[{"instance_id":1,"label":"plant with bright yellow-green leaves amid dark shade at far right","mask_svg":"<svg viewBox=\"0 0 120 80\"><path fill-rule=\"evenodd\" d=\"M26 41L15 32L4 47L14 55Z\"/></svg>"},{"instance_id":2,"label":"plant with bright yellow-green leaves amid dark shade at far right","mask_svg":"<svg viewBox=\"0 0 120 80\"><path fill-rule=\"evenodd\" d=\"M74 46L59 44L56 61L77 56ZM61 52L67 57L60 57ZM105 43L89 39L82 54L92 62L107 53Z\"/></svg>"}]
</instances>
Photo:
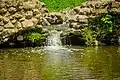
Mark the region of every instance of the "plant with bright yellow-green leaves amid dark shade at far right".
<instances>
[{"instance_id":1,"label":"plant with bright yellow-green leaves amid dark shade at far right","mask_svg":"<svg viewBox=\"0 0 120 80\"><path fill-rule=\"evenodd\" d=\"M117 14L116 14L117 15ZM116 34L116 30L118 29L117 25L116 25L116 19L117 19L117 16L112 14L112 13L109 13L109 14L106 14L104 15L102 18L101 18L101 32L100 32L100 35L101 35L101 38L102 39L108 39L108 40L111 40L112 38L117 38L118 35ZM117 19L118 20L118 19ZM115 33L114 33L115 32Z\"/></svg>"}]
</instances>

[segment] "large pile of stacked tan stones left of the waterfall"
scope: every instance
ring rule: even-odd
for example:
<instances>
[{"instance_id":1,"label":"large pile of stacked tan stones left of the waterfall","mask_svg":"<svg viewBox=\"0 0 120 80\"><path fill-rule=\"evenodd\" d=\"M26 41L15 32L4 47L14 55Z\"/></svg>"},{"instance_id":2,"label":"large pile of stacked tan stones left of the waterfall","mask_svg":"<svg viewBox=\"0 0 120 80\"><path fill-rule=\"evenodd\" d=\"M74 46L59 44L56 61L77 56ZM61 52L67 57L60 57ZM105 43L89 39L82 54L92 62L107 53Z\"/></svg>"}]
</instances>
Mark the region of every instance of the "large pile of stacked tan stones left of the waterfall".
<instances>
[{"instance_id":1,"label":"large pile of stacked tan stones left of the waterfall","mask_svg":"<svg viewBox=\"0 0 120 80\"><path fill-rule=\"evenodd\" d=\"M28 27L35 27L43 13L44 3L35 0L0 0L0 41Z\"/></svg>"}]
</instances>

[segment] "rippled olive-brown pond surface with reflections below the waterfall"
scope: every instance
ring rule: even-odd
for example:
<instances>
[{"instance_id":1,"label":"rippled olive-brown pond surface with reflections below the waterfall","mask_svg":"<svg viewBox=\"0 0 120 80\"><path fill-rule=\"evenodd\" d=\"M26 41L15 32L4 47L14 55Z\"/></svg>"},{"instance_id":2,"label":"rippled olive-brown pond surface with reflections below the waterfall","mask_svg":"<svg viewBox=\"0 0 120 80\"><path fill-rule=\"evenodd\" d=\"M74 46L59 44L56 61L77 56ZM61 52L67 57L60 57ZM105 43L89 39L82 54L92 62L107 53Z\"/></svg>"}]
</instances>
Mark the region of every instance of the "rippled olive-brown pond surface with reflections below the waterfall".
<instances>
[{"instance_id":1,"label":"rippled olive-brown pond surface with reflections below the waterfall","mask_svg":"<svg viewBox=\"0 0 120 80\"><path fill-rule=\"evenodd\" d=\"M40 48L0 50L0 80L120 80L119 47L70 49L70 54Z\"/></svg>"}]
</instances>

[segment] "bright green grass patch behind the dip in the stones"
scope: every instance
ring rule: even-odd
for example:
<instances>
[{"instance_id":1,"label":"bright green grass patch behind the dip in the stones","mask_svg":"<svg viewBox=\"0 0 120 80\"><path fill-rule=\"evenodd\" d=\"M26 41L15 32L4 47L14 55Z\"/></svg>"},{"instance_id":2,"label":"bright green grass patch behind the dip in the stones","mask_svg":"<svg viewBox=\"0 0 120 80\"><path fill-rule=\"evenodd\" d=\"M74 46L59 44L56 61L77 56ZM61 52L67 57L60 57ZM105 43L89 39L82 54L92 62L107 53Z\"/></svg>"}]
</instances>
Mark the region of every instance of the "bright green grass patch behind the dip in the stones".
<instances>
[{"instance_id":1,"label":"bright green grass patch behind the dip in the stones","mask_svg":"<svg viewBox=\"0 0 120 80\"><path fill-rule=\"evenodd\" d=\"M85 2L85 0L40 0L44 2L50 11L60 11L72 8Z\"/></svg>"}]
</instances>

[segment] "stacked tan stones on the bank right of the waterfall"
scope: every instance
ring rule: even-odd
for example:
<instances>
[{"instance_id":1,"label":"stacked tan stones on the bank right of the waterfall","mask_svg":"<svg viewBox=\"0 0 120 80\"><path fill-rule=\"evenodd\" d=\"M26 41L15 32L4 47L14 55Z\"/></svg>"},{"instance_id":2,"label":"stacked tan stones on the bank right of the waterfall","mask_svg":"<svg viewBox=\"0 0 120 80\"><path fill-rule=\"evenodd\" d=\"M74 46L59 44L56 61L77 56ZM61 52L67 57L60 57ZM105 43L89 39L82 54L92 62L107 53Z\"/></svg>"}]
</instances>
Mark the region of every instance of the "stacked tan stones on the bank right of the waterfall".
<instances>
[{"instance_id":1,"label":"stacked tan stones on the bank right of the waterfall","mask_svg":"<svg viewBox=\"0 0 120 80\"><path fill-rule=\"evenodd\" d=\"M71 28L81 29L88 25L88 21L90 19L100 16L101 14L108 13L107 6L108 1L89 0L81 6L71 9L69 13L66 13L66 22ZM113 2L111 11L120 12L120 3Z\"/></svg>"}]
</instances>

